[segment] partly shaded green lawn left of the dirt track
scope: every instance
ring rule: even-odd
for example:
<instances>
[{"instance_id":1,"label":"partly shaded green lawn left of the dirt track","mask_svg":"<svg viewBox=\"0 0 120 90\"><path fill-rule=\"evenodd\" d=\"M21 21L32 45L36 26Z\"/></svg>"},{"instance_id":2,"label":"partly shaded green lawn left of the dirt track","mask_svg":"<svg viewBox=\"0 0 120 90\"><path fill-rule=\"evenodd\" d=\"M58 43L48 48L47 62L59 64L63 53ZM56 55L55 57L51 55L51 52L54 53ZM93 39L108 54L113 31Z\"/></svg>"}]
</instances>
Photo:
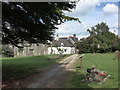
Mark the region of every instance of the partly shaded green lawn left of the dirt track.
<instances>
[{"instance_id":1,"label":"partly shaded green lawn left of the dirt track","mask_svg":"<svg viewBox=\"0 0 120 90\"><path fill-rule=\"evenodd\" d=\"M3 82L19 80L36 73L40 73L44 68L53 65L67 56L70 55L65 55L64 57L59 57L59 55L41 55L19 58L3 58Z\"/></svg>"}]
</instances>

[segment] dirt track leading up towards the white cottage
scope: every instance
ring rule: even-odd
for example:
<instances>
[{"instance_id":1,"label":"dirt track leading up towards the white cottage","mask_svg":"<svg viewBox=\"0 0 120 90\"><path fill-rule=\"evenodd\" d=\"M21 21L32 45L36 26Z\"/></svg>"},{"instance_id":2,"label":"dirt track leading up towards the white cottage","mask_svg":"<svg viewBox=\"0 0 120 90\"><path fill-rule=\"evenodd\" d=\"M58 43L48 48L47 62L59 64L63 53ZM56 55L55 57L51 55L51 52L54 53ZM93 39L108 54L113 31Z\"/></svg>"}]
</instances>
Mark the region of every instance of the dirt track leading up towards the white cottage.
<instances>
[{"instance_id":1,"label":"dirt track leading up towards the white cottage","mask_svg":"<svg viewBox=\"0 0 120 90\"><path fill-rule=\"evenodd\" d=\"M70 72L75 71L77 56L67 57L42 73L22 80L15 88L63 88Z\"/></svg>"}]
</instances>

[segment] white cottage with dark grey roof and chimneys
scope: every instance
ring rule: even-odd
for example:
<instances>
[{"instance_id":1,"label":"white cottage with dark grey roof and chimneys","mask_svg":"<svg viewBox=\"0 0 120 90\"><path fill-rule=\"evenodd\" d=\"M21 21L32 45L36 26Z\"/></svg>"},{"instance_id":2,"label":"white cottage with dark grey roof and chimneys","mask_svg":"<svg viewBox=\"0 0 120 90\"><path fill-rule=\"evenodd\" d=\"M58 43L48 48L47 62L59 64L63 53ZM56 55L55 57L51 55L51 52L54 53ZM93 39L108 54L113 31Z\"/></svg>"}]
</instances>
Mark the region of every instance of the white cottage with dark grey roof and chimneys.
<instances>
[{"instance_id":1,"label":"white cottage with dark grey roof and chimneys","mask_svg":"<svg viewBox=\"0 0 120 90\"><path fill-rule=\"evenodd\" d=\"M78 38L74 34L73 37L61 37L58 35L51 42L51 46L48 47L48 54L60 54L60 50L63 51L62 54L75 54L78 53L76 48L76 43L78 43Z\"/></svg>"}]
</instances>

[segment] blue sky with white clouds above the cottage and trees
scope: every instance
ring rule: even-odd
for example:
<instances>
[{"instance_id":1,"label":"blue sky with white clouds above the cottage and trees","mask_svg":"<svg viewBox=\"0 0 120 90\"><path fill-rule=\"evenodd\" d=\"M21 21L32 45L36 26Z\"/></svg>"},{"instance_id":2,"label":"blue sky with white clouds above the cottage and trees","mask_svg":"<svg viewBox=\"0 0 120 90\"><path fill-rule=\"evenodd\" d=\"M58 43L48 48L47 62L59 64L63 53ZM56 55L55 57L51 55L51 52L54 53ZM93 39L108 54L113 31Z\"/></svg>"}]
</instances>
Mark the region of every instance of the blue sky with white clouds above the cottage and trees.
<instances>
[{"instance_id":1,"label":"blue sky with white clouds above the cottage and trees","mask_svg":"<svg viewBox=\"0 0 120 90\"><path fill-rule=\"evenodd\" d=\"M76 9L72 12L65 12L65 15L79 18L77 21L67 21L58 26L56 34L59 37L68 37L76 34L79 39L88 37L87 29L105 22L110 32L118 34L118 2L100 2L99 0L80 0Z\"/></svg>"}]
</instances>

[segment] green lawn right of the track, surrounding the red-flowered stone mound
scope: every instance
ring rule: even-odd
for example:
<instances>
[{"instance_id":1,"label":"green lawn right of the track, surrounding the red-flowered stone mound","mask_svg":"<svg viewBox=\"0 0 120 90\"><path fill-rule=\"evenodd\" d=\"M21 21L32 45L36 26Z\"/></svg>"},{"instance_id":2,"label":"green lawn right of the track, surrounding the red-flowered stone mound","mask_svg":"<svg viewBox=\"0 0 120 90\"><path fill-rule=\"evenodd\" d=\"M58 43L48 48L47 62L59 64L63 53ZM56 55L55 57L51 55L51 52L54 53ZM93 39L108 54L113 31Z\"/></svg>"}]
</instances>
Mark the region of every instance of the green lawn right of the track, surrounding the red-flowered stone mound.
<instances>
[{"instance_id":1,"label":"green lawn right of the track, surrounding the red-flowered stone mound","mask_svg":"<svg viewBox=\"0 0 120 90\"><path fill-rule=\"evenodd\" d=\"M118 60L114 54L85 54L83 57L83 70L76 68L71 75L67 87L71 88L118 88ZM85 78L87 68L95 65L97 69L108 72L111 77L102 84L81 82ZM79 60L76 67L79 67Z\"/></svg>"}]
</instances>

